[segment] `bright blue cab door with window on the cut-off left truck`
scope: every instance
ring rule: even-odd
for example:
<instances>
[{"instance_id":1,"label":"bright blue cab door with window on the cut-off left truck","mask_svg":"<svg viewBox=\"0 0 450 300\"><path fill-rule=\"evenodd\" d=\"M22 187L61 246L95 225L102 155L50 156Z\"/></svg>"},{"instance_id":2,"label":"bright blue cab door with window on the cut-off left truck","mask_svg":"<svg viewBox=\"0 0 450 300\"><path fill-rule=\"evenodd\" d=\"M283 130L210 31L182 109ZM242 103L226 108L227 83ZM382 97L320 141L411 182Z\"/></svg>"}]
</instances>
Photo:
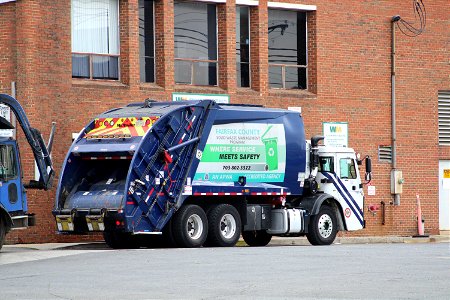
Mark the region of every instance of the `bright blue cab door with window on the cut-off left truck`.
<instances>
[{"instance_id":1,"label":"bright blue cab door with window on the cut-off left truck","mask_svg":"<svg viewBox=\"0 0 450 300\"><path fill-rule=\"evenodd\" d=\"M9 212L27 210L15 145L13 141L0 144L0 201Z\"/></svg>"}]
</instances>

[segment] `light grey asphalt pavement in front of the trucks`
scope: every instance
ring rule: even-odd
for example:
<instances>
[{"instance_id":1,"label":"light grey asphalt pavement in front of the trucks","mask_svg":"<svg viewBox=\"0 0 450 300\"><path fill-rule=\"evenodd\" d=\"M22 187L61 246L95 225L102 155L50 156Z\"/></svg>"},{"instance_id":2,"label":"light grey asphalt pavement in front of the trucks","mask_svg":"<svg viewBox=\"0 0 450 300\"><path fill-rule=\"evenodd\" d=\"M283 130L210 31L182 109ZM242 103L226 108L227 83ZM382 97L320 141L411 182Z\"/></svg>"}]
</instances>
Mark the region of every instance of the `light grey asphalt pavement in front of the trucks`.
<instances>
[{"instance_id":1,"label":"light grey asphalt pavement in front of the trucks","mask_svg":"<svg viewBox=\"0 0 450 300\"><path fill-rule=\"evenodd\" d=\"M7 246L0 253L0 299L449 299L450 244L421 241L132 250L104 243Z\"/></svg>"}]
</instances>

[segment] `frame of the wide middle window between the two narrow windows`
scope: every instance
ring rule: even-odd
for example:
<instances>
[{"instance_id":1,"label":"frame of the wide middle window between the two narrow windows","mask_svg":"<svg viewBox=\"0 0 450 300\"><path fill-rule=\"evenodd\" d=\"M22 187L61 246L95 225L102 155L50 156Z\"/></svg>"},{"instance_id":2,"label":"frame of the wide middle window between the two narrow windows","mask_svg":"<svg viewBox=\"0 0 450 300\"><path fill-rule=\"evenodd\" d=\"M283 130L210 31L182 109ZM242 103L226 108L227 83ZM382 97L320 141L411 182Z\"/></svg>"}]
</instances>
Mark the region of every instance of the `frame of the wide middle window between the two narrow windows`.
<instances>
[{"instance_id":1,"label":"frame of the wide middle window between the two narrow windows","mask_svg":"<svg viewBox=\"0 0 450 300\"><path fill-rule=\"evenodd\" d=\"M175 64L177 61L181 61L181 62L188 62L190 65L190 83L178 83L176 82L176 76L174 76L174 82L176 85L192 85L192 86L202 86L202 87L217 87L219 86L219 15L218 15L218 7L217 4L221 4L218 2L213 2L213 1L180 1L180 0L175 0L174 1L174 10L175 10L175 5L176 3L203 3L203 4L210 4L210 5L214 5L215 10L216 10L216 28L215 28L215 34L216 34L216 60L211 60L211 59L195 59L195 58L183 58L183 57L175 57L175 51L174 51L174 72L176 72L175 70ZM175 27L175 11L174 11L174 27ZM175 28L174 28L174 50L175 50ZM216 65L216 84L214 85L203 85L203 84L194 84L193 82L195 82L194 80L194 74L195 74L195 67L194 64L196 63L214 63Z\"/></svg>"}]
</instances>

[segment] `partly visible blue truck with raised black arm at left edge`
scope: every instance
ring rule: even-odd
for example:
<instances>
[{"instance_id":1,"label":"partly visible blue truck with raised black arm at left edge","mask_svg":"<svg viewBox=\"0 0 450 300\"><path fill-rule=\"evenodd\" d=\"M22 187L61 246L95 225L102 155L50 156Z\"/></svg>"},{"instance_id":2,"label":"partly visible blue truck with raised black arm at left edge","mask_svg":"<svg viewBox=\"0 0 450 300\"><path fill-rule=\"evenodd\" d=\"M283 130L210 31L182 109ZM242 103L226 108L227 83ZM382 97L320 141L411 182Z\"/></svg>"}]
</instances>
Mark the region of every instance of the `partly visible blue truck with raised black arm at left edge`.
<instances>
[{"instance_id":1,"label":"partly visible blue truck with raised black arm at left edge","mask_svg":"<svg viewBox=\"0 0 450 300\"><path fill-rule=\"evenodd\" d=\"M47 145L40 131L31 127L20 103L7 94L0 94L0 104L9 107L34 155L38 180L24 184L23 170L20 163L19 146L9 134L0 137L0 249L5 241L5 235L13 229L23 229L36 223L35 215L28 212L26 189L48 190L52 186L55 172L50 156L56 123L52 124ZM8 111L9 113L9 111ZM14 126L3 116L0 116L0 129L14 129Z\"/></svg>"}]
</instances>

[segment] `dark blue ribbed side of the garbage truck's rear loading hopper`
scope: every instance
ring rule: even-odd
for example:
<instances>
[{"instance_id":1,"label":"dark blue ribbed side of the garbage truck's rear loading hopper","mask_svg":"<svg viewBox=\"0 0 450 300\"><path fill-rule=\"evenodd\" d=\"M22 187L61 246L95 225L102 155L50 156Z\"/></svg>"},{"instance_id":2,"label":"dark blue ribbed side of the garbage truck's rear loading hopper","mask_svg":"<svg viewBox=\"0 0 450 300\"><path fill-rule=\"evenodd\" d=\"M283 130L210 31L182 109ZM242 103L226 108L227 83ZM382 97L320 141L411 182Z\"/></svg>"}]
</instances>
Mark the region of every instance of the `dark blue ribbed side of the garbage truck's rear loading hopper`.
<instances>
[{"instance_id":1,"label":"dark blue ribbed side of the garbage truck's rear loading hopper","mask_svg":"<svg viewBox=\"0 0 450 300\"><path fill-rule=\"evenodd\" d=\"M131 166L125 211L134 233L160 232L182 205L180 196L211 104L204 100L172 111L141 142Z\"/></svg>"}]
</instances>

